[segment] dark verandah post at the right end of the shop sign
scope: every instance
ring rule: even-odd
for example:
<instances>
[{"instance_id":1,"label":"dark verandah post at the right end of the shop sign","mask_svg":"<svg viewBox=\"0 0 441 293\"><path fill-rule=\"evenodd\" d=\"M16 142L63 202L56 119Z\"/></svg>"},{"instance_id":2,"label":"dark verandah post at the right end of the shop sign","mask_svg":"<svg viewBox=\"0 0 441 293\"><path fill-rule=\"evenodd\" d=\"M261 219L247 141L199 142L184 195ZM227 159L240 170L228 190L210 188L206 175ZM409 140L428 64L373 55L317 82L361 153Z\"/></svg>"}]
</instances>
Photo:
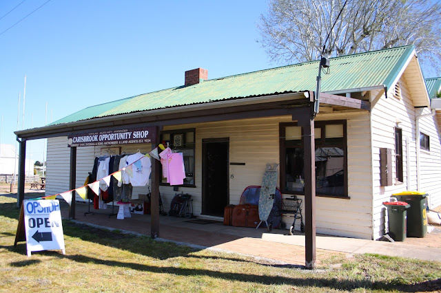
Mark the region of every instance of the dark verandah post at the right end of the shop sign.
<instances>
[{"instance_id":1,"label":"dark verandah post at the right end of the shop sign","mask_svg":"<svg viewBox=\"0 0 441 293\"><path fill-rule=\"evenodd\" d=\"M152 150L158 146L159 141L159 127L155 127L154 141L152 143ZM152 195L150 196L150 213L151 213L151 227L150 235L152 238L159 237L159 180L160 177L159 161L152 159Z\"/></svg>"}]
</instances>

